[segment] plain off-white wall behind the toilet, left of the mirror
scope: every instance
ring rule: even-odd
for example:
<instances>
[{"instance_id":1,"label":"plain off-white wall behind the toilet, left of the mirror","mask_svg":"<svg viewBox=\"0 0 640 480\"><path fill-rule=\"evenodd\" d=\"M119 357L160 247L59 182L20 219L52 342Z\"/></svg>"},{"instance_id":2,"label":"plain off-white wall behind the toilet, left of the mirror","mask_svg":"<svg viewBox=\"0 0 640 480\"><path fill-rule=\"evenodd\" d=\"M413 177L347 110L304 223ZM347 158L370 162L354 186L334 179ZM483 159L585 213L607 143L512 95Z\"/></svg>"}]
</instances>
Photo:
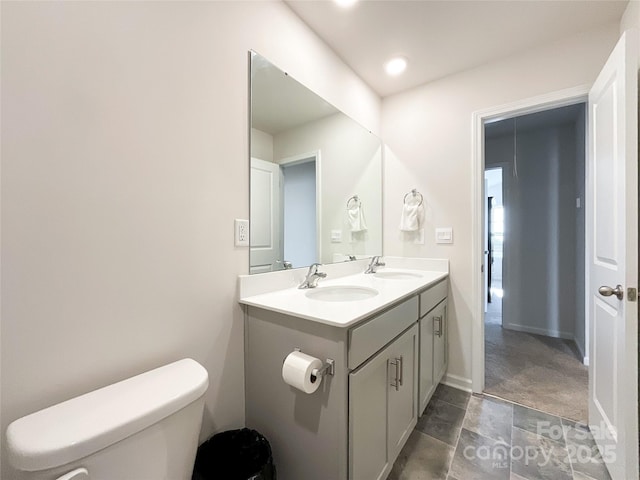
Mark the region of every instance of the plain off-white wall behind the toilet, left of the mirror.
<instances>
[{"instance_id":1,"label":"plain off-white wall behind the toilet, left of the mirror","mask_svg":"<svg viewBox=\"0 0 640 480\"><path fill-rule=\"evenodd\" d=\"M242 426L247 52L374 132L379 99L281 2L2 2L1 27L2 431L181 357L203 437Z\"/></svg>"}]
</instances>

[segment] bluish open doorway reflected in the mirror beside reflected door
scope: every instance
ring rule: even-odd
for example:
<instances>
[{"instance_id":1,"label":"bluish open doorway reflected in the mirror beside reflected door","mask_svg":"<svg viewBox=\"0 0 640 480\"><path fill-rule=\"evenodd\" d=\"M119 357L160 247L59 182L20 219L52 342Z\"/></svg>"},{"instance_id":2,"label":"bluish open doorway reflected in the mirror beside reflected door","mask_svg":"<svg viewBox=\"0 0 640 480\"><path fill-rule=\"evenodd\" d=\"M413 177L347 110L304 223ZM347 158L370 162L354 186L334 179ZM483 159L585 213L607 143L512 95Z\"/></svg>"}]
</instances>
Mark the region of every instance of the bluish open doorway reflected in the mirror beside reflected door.
<instances>
[{"instance_id":1,"label":"bluish open doorway reflected in the mirror beside reflected door","mask_svg":"<svg viewBox=\"0 0 640 480\"><path fill-rule=\"evenodd\" d=\"M293 268L319 258L316 239L316 159L281 164L284 260Z\"/></svg>"}]
</instances>

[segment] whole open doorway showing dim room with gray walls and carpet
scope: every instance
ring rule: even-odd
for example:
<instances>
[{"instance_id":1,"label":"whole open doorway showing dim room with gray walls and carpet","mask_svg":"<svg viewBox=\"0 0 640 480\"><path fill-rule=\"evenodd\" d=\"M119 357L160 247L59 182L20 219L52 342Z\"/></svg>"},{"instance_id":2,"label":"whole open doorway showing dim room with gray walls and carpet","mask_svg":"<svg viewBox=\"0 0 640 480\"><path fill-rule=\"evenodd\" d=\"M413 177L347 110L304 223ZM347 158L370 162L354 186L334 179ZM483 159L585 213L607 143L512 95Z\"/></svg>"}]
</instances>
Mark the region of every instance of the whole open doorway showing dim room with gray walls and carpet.
<instances>
[{"instance_id":1,"label":"whole open doorway showing dim room with gray walls and carpet","mask_svg":"<svg viewBox=\"0 0 640 480\"><path fill-rule=\"evenodd\" d=\"M484 131L484 391L587 422L585 104Z\"/></svg>"}]
</instances>

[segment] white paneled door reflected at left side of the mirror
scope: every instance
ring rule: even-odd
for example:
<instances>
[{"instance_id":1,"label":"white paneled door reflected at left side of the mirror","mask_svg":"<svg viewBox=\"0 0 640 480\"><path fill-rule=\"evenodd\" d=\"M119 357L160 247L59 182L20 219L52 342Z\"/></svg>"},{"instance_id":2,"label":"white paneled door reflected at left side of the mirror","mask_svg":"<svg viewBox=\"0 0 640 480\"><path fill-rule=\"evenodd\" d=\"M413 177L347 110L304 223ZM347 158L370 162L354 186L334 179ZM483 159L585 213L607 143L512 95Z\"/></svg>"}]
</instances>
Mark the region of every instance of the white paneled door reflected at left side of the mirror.
<instances>
[{"instance_id":1,"label":"white paneled door reflected at left side of the mirror","mask_svg":"<svg viewBox=\"0 0 640 480\"><path fill-rule=\"evenodd\" d=\"M280 197L280 165L252 158L250 273L271 272L282 268Z\"/></svg>"}]
</instances>

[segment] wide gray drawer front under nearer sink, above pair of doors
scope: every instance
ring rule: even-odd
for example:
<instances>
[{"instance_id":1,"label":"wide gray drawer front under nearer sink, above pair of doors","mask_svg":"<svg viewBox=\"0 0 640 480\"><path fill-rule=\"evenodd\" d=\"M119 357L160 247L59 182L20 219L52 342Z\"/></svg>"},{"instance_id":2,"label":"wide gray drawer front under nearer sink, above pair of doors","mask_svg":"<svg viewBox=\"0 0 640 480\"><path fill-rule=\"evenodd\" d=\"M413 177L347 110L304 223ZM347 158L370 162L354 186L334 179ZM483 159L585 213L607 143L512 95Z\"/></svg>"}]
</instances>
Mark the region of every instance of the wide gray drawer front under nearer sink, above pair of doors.
<instances>
[{"instance_id":1,"label":"wide gray drawer front under nearer sink, above pair of doors","mask_svg":"<svg viewBox=\"0 0 640 480\"><path fill-rule=\"evenodd\" d=\"M418 297L413 297L351 330L349 368L356 368L417 320Z\"/></svg>"}]
</instances>

